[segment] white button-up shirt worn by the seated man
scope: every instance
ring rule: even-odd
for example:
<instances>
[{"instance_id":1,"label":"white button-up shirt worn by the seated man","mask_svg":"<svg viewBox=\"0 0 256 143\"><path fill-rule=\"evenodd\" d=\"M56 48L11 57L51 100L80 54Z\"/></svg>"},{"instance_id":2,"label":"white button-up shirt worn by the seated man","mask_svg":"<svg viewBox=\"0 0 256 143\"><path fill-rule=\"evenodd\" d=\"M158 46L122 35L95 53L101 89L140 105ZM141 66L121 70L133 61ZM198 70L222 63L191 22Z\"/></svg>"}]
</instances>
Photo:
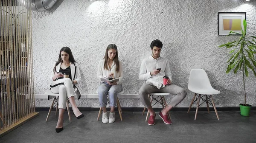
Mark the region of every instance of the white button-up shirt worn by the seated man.
<instances>
[{"instance_id":1,"label":"white button-up shirt worn by the seated man","mask_svg":"<svg viewBox=\"0 0 256 143\"><path fill-rule=\"evenodd\" d=\"M160 73L151 76L150 72L157 68L161 68ZM140 66L140 80L144 80L146 81L146 83L152 83L154 84L154 86L160 89L163 84L163 76L168 76L169 79L172 81L170 65L166 58L160 56L159 58L154 59L151 55L143 59Z\"/></svg>"}]
</instances>

